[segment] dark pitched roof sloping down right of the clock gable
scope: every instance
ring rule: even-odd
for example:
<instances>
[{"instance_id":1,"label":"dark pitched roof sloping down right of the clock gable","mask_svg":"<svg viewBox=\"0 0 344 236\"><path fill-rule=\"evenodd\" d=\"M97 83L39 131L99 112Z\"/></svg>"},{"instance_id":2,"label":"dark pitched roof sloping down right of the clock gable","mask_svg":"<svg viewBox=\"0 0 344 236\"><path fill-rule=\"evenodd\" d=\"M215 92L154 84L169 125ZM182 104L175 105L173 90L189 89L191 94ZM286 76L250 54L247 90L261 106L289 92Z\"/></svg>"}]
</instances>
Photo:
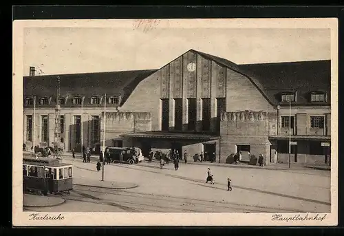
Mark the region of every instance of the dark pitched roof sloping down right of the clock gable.
<instances>
[{"instance_id":1,"label":"dark pitched roof sloping down right of the clock gable","mask_svg":"<svg viewBox=\"0 0 344 236\"><path fill-rule=\"evenodd\" d=\"M297 92L298 105L310 105L310 92L326 92L327 101L323 105L330 104L330 60L238 65L225 58L193 51L246 76L271 105L280 103L282 92Z\"/></svg>"}]
</instances>

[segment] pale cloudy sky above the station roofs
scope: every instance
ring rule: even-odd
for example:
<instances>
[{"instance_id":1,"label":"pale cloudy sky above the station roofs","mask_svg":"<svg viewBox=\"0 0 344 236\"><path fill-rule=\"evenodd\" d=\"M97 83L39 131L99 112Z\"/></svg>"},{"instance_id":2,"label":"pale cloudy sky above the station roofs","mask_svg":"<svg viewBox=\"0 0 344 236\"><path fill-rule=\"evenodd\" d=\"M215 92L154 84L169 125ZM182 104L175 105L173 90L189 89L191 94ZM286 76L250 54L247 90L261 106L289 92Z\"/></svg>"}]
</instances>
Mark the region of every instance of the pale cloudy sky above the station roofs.
<instances>
[{"instance_id":1,"label":"pale cloudy sky above the station roofs","mask_svg":"<svg viewBox=\"0 0 344 236\"><path fill-rule=\"evenodd\" d=\"M330 59L330 30L25 28L24 76L159 69L194 49L237 64Z\"/></svg>"}]
</instances>

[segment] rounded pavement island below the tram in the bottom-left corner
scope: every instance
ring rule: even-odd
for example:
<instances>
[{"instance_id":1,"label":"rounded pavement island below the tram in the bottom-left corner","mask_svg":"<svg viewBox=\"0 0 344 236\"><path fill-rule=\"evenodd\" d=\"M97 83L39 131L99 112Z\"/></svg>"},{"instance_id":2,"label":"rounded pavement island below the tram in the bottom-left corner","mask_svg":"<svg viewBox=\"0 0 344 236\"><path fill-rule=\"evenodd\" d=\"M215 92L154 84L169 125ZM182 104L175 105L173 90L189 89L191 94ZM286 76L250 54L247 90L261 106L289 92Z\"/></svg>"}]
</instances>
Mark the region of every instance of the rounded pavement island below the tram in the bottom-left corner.
<instances>
[{"instance_id":1,"label":"rounded pavement island below the tram in the bottom-left corner","mask_svg":"<svg viewBox=\"0 0 344 236\"><path fill-rule=\"evenodd\" d=\"M60 197L48 197L40 195L23 195L23 206L26 207L47 207L47 206L58 206L65 203L65 200Z\"/></svg>"}]
</instances>

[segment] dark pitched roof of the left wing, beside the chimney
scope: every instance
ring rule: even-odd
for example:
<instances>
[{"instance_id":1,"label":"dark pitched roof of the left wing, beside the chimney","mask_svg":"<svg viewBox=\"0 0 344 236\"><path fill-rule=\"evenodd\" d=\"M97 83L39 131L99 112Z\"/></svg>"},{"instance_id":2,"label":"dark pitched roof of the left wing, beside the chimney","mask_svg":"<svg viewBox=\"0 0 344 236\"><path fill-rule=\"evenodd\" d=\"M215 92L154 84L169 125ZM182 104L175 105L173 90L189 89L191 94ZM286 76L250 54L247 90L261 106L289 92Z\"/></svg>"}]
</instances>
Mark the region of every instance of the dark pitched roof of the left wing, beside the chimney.
<instances>
[{"instance_id":1,"label":"dark pitched roof of the left wing, beside the chimney","mask_svg":"<svg viewBox=\"0 0 344 236\"><path fill-rule=\"evenodd\" d=\"M23 78L24 96L52 96L56 94L56 78L60 76L61 96L118 94L122 102L133 89L156 69L122 72L98 72L84 74L60 74L46 76L25 76Z\"/></svg>"}]
</instances>

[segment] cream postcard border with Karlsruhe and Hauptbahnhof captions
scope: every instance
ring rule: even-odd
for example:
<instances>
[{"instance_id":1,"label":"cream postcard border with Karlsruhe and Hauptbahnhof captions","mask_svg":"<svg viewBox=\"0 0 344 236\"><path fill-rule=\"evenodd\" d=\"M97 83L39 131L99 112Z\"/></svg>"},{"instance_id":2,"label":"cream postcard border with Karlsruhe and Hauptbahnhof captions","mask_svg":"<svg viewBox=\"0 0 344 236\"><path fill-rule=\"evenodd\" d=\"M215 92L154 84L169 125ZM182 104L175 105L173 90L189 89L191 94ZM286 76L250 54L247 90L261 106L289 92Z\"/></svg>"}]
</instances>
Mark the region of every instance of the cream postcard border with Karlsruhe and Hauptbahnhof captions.
<instances>
[{"instance_id":1,"label":"cream postcard border with Karlsruhe and Hauptbahnhof captions","mask_svg":"<svg viewBox=\"0 0 344 236\"><path fill-rule=\"evenodd\" d=\"M159 19L156 28L310 28L331 30L331 213L319 221L272 221L274 213L62 213L63 220L29 220L23 212L23 29L128 28L134 20L28 20L13 22L13 226L335 226L338 222L338 19ZM45 215L45 213L41 213ZM50 213L51 214L51 213ZM292 217L298 213L278 213ZM305 213L300 213L305 216ZM309 216L316 214L310 213ZM135 221L133 221L135 217ZM154 219L153 219L154 218ZM101 219L101 220L100 220ZM167 224L168 222L168 224Z\"/></svg>"}]
</instances>

